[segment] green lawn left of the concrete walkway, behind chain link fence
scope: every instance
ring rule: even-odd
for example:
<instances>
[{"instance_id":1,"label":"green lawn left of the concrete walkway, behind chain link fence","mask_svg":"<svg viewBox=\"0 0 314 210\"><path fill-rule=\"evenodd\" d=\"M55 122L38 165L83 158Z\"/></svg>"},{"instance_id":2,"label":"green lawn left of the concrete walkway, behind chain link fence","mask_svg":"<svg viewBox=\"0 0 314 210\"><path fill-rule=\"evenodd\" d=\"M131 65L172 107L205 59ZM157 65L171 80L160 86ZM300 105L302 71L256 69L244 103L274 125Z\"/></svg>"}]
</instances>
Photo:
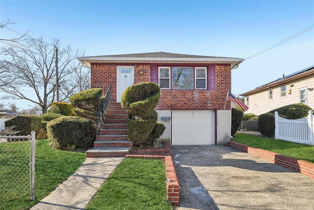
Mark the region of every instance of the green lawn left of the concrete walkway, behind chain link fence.
<instances>
[{"instance_id":1,"label":"green lawn left of the concrete walkway, behind chain link fence","mask_svg":"<svg viewBox=\"0 0 314 210\"><path fill-rule=\"evenodd\" d=\"M12 159L25 156L24 154L15 152L16 147L12 147L12 144L18 146L19 144L28 144L28 142L0 144L0 189L10 187L12 184L9 183L8 185L8 180L17 181L19 179L17 176L21 174L21 172L19 172L20 166L13 167L6 164L6 152L14 154ZM82 162L84 162L85 158L86 155L83 152L54 150L50 147L47 139L37 140L35 156L35 201L31 202L27 193L26 195L21 195L18 188L13 189L16 190L15 193L18 196L8 197L2 194L0 197L0 210L24 210L34 206L42 198L47 196L59 183L73 174ZM5 171L10 171L10 173L3 173Z\"/></svg>"}]
</instances>

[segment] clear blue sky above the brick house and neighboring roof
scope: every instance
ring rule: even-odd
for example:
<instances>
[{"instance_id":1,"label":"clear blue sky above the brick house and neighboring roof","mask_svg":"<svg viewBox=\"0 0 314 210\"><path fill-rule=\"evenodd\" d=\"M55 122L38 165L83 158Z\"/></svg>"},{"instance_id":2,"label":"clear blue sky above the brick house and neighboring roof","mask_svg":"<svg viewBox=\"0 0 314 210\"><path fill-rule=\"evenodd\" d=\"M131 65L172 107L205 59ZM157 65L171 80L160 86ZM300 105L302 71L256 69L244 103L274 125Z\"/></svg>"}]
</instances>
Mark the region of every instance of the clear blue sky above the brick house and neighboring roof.
<instances>
[{"instance_id":1,"label":"clear blue sky above the brick house and neighboring roof","mask_svg":"<svg viewBox=\"0 0 314 210\"><path fill-rule=\"evenodd\" d=\"M6 19L17 22L11 30L59 38L86 56L163 51L246 59L313 26L314 0L0 0ZM0 37L19 34L0 29ZM232 92L312 65L314 29L241 63Z\"/></svg>"}]
</instances>

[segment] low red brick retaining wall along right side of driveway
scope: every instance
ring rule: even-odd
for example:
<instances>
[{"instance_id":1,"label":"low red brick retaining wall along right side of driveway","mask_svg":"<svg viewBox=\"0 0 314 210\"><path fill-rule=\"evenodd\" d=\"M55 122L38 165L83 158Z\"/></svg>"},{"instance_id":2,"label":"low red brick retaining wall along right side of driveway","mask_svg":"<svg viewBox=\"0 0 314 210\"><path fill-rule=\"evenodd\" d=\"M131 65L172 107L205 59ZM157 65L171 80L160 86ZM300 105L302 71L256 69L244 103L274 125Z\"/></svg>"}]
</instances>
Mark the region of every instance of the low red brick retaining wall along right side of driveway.
<instances>
[{"instance_id":1,"label":"low red brick retaining wall along right side of driveway","mask_svg":"<svg viewBox=\"0 0 314 210\"><path fill-rule=\"evenodd\" d=\"M238 142L228 142L228 146L238 150L245 151L262 159L268 160L269 162L284 166L293 171L304 174L305 176L314 178L314 163L298 160L292 157L288 157L282 154L274 153L267 150L258 149L255 147L240 144Z\"/></svg>"}]
</instances>

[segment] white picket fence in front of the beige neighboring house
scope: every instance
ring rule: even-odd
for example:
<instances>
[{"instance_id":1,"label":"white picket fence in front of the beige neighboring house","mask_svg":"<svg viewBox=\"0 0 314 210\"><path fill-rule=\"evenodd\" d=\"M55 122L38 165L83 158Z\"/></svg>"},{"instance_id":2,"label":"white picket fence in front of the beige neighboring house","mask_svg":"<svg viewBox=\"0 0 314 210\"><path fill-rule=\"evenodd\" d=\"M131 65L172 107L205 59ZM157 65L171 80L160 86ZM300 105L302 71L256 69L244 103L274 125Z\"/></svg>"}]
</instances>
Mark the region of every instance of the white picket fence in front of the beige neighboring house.
<instances>
[{"instance_id":1,"label":"white picket fence in front of the beige neighboring house","mask_svg":"<svg viewBox=\"0 0 314 210\"><path fill-rule=\"evenodd\" d=\"M307 117L289 120L275 112L275 139L314 145L314 118L310 110Z\"/></svg>"}]
</instances>

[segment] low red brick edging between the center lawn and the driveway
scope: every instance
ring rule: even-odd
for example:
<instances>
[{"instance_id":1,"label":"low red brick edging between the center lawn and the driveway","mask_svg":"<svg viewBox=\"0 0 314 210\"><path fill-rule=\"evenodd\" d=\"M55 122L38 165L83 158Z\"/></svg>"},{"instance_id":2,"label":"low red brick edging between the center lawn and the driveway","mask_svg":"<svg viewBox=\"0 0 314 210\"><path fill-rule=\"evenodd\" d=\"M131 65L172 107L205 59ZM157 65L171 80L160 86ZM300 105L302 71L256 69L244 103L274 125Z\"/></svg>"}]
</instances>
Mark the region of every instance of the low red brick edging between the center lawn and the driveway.
<instances>
[{"instance_id":1,"label":"low red brick edging between the center lawn and the driveway","mask_svg":"<svg viewBox=\"0 0 314 210\"><path fill-rule=\"evenodd\" d=\"M149 158L161 159L166 165L167 177L167 198L170 204L180 206L180 185L178 177L173 165L172 157L169 153L169 146L167 142L163 142L164 149L156 150L132 150L130 154L125 157L128 158Z\"/></svg>"}]
</instances>

